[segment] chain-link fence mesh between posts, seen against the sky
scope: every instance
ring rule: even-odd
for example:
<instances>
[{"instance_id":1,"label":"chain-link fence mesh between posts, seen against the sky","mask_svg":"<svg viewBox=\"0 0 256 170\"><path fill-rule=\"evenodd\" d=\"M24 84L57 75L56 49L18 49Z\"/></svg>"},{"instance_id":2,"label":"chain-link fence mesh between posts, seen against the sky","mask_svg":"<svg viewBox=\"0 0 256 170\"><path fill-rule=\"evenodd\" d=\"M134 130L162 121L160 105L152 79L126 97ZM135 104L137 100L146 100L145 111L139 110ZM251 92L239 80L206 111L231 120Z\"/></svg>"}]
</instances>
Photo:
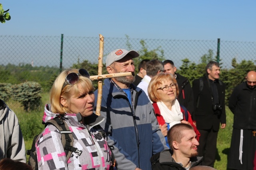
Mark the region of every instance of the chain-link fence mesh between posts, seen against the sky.
<instances>
[{"instance_id":1,"label":"chain-link fence mesh between posts, seen against the sky","mask_svg":"<svg viewBox=\"0 0 256 170\"><path fill-rule=\"evenodd\" d=\"M0 35L2 42L0 48L0 67L8 64L31 66L49 66L62 70L72 67L73 64L84 60L98 63L99 37L69 37L63 38L62 60L60 59L60 36L4 36ZM144 46L142 45L142 41ZM218 40L170 40L170 39L131 39L104 37L104 58L114 49L134 49L142 53L143 48L148 51L163 51L164 59L170 59L179 68L183 59L196 64L201 57L212 50L217 54ZM156 50L157 49L157 50ZM256 60L256 42L222 41L220 39L220 60L222 68L232 68L232 59L240 63L242 60ZM60 64L62 61L62 64ZM4 83L4 75L0 76Z\"/></svg>"}]
</instances>

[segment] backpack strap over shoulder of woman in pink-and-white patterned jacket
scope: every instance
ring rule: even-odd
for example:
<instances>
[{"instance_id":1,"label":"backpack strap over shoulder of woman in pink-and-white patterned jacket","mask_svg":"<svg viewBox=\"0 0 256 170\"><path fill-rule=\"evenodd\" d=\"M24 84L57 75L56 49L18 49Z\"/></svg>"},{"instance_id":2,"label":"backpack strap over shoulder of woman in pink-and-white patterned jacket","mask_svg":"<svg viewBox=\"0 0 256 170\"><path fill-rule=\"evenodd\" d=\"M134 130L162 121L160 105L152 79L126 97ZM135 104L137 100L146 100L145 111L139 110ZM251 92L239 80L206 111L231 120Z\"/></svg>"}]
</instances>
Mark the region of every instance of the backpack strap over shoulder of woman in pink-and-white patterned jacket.
<instances>
[{"instance_id":1,"label":"backpack strap over shoulder of woman in pink-and-white patterned jacket","mask_svg":"<svg viewBox=\"0 0 256 170\"><path fill-rule=\"evenodd\" d=\"M70 158L72 152L75 152L80 156L82 153L82 150L78 150L77 148L73 147L74 145L73 135L67 123L63 121L61 117L55 117L54 119L48 120L45 123L45 127L49 124L54 125L60 131L61 142L64 147L67 160Z\"/></svg>"}]
</instances>

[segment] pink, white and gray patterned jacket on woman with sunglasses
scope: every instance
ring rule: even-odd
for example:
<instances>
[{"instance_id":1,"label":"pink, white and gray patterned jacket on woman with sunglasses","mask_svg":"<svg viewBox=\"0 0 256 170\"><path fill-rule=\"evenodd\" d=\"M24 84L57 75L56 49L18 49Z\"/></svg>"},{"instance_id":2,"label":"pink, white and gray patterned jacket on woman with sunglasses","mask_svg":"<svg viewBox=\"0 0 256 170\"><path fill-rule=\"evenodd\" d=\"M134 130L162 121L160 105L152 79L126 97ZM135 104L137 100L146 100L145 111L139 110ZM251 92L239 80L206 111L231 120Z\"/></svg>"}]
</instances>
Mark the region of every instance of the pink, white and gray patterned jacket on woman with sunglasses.
<instances>
[{"instance_id":1,"label":"pink, white and gray patterned jacket on woman with sunglasses","mask_svg":"<svg viewBox=\"0 0 256 170\"><path fill-rule=\"evenodd\" d=\"M50 104L44 108L43 122L47 122L58 113L50 111ZM78 121L76 114L65 114L66 121L73 135L74 145L82 154L72 152L66 160L66 154L61 142L60 131L54 125L48 125L36 141L38 169L40 170L108 170L111 166L111 151L106 140L94 128L104 121L95 114L86 117L85 125Z\"/></svg>"}]
</instances>

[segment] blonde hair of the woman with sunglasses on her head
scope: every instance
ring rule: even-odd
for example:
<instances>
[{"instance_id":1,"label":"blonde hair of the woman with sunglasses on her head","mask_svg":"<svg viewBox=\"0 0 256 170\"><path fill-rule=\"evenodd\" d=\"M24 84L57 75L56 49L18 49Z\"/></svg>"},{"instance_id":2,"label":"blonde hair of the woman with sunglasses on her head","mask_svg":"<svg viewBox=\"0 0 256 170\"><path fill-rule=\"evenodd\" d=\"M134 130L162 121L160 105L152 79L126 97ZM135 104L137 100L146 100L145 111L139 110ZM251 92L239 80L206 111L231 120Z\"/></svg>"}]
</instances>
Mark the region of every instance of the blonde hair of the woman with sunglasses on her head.
<instances>
[{"instance_id":1,"label":"blonde hair of the woman with sunglasses on her head","mask_svg":"<svg viewBox=\"0 0 256 170\"><path fill-rule=\"evenodd\" d=\"M71 72L78 73L78 69L73 68L70 70L62 71L52 85L52 88L50 90L50 104L51 104L51 111L53 113L60 113L60 114L70 113L70 109L69 109L70 99L71 99L71 96L73 95L77 95L77 96L79 95L80 93L78 90L79 85L83 87L83 90L86 93L94 90L92 81L89 78L86 78L81 75L79 75L79 80L76 84L74 85L67 84L62 89L66 76ZM61 97L66 99L68 107L64 107L60 103Z\"/></svg>"}]
</instances>

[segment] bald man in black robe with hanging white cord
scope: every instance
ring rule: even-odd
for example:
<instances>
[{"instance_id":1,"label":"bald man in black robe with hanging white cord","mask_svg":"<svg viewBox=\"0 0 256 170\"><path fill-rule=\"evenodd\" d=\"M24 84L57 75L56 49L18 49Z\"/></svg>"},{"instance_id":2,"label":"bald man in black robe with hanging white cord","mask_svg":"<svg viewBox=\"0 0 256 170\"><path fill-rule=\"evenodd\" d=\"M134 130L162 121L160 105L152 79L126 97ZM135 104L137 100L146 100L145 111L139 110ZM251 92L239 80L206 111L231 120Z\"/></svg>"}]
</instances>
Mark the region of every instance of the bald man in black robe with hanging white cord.
<instances>
[{"instance_id":1,"label":"bald man in black robe with hanging white cord","mask_svg":"<svg viewBox=\"0 0 256 170\"><path fill-rule=\"evenodd\" d=\"M228 103L234 114L228 168L253 170L256 150L256 72L249 71L245 79L234 88Z\"/></svg>"}]
</instances>

